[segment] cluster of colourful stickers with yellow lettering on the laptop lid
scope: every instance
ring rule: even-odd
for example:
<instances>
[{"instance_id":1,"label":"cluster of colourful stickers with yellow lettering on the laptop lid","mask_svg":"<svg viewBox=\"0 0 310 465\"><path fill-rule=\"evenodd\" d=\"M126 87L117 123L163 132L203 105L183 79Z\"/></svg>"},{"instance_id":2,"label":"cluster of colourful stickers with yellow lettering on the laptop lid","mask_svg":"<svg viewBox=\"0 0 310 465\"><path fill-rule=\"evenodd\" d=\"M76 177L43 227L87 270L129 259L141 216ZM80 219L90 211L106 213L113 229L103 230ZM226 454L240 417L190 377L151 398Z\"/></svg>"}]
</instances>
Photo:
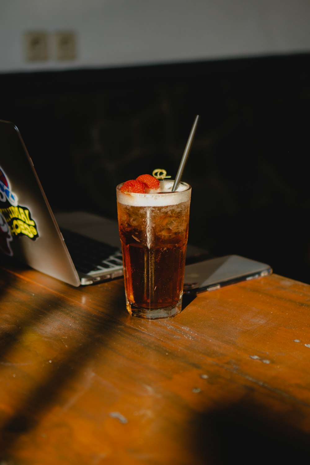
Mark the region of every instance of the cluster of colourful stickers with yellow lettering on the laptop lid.
<instances>
[{"instance_id":1,"label":"cluster of colourful stickers with yellow lettering on the laptop lid","mask_svg":"<svg viewBox=\"0 0 310 465\"><path fill-rule=\"evenodd\" d=\"M37 239L37 225L29 208L18 204L18 198L0 166L0 249L7 255L13 255L10 242L21 236Z\"/></svg>"}]
</instances>

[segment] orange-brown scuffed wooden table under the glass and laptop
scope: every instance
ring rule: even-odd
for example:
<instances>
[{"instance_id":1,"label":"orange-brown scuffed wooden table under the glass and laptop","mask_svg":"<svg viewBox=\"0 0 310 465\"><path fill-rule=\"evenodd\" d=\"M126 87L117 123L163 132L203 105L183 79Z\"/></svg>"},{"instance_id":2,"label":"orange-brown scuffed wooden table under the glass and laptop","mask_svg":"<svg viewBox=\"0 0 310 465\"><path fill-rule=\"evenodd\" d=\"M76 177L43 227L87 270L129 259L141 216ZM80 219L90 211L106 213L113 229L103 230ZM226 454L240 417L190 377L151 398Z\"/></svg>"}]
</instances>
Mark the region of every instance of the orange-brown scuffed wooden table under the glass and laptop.
<instances>
[{"instance_id":1,"label":"orange-brown scuffed wooden table under the glass and laptop","mask_svg":"<svg viewBox=\"0 0 310 465\"><path fill-rule=\"evenodd\" d=\"M271 275L125 311L118 279L73 288L0 268L0 464L308 464L310 286Z\"/></svg>"}]
</instances>

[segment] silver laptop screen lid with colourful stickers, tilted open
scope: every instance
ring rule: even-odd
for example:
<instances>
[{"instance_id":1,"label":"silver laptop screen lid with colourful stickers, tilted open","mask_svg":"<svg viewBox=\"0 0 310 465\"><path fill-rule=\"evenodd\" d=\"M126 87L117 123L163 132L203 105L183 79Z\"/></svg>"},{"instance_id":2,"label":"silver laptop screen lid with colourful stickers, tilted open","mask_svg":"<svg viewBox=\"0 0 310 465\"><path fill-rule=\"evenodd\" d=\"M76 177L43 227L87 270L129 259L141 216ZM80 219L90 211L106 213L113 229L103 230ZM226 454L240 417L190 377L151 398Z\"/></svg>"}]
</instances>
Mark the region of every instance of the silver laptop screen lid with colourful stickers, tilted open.
<instances>
[{"instance_id":1,"label":"silver laptop screen lid with colourful stickers, tilted open","mask_svg":"<svg viewBox=\"0 0 310 465\"><path fill-rule=\"evenodd\" d=\"M0 250L73 286L100 279L100 273L88 278L77 272L19 130L3 120L0 120ZM122 272L119 266L119 275ZM102 274L109 277L107 271Z\"/></svg>"}]
</instances>

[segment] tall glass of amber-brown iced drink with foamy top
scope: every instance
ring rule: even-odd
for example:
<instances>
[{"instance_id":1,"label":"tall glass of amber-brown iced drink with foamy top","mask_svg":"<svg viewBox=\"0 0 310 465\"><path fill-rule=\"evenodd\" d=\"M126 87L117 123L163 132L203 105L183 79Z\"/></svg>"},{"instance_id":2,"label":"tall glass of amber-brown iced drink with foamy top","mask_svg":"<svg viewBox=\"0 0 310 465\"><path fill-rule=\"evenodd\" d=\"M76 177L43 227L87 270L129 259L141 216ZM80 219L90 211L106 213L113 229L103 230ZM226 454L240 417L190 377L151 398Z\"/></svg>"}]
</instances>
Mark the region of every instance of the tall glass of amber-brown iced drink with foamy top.
<instances>
[{"instance_id":1,"label":"tall glass of amber-brown iced drink with foamy top","mask_svg":"<svg viewBox=\"0 0 310 465\"><path fill-rule=\"evenodd\" d=\"M181 311L191 186L161 180L160 192L122 193L117 186L126 307L140 318Z\"/></svg>"}]
</instances>

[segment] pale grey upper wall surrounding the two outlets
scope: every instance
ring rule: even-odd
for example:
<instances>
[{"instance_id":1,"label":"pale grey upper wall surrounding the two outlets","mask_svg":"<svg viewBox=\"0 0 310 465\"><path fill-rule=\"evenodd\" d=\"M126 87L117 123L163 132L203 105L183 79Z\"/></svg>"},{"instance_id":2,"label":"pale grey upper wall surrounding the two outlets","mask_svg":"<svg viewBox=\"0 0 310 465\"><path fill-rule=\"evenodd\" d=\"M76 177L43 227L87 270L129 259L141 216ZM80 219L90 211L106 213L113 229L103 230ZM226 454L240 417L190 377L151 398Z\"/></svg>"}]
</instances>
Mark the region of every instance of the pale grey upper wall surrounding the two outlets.
<instances>
[{"instance_id":1,"label":"pale grey upper wall surrounding the two outlets","mask_svg":"<svg viewBox=\"0 0 310 465\"><path fill-rule=\"evenodd\" d=\"M24 33L73 31L75 60L27 62ZM310 52L310 0L0 0L0 72Z\"/></svg>"}]
</instances>

